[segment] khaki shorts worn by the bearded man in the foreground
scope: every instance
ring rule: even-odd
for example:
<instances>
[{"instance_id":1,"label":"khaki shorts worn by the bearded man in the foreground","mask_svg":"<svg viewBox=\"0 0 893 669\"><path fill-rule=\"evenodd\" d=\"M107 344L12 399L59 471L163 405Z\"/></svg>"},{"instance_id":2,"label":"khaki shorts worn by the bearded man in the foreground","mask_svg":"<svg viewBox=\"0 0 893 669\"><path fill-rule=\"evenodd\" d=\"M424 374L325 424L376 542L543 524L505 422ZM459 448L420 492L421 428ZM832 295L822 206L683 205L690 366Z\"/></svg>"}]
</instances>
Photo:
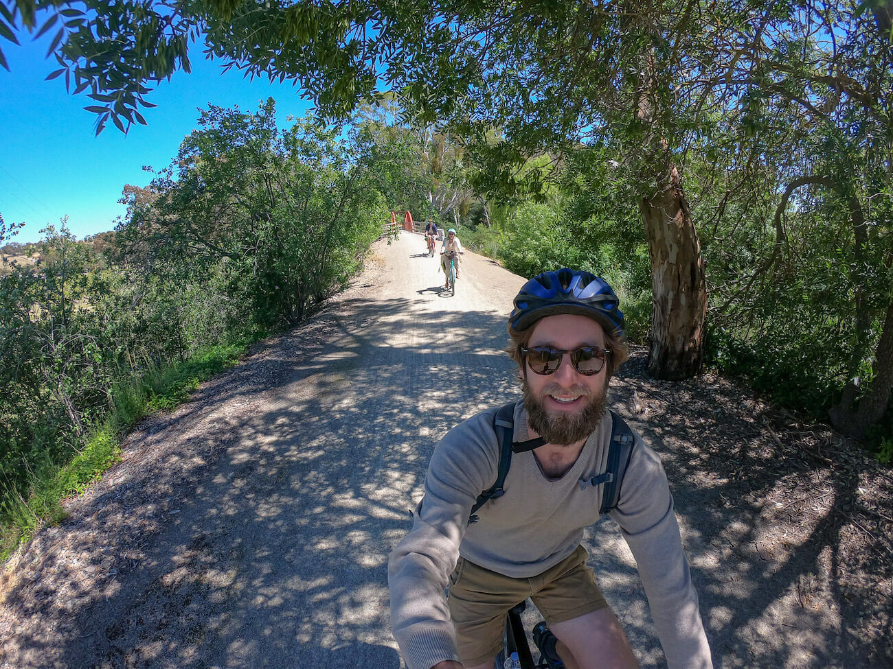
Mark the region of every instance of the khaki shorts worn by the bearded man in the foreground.
<instances>
[{"instance_id":1,"label":"khaki shorts worn by the bearded man in the foreground","mask_svg":"<svg viewBox=\"0 0 893 669\"><path fill-rule=\"evenodd\" d=\"M512 578L459 558L449 577L450 616L465 666L492 661L503 647L509 609L527 598L547 624L563 623L608 606L578 546L557 565L531 578Z\"/></svg>"}]
</instances>

